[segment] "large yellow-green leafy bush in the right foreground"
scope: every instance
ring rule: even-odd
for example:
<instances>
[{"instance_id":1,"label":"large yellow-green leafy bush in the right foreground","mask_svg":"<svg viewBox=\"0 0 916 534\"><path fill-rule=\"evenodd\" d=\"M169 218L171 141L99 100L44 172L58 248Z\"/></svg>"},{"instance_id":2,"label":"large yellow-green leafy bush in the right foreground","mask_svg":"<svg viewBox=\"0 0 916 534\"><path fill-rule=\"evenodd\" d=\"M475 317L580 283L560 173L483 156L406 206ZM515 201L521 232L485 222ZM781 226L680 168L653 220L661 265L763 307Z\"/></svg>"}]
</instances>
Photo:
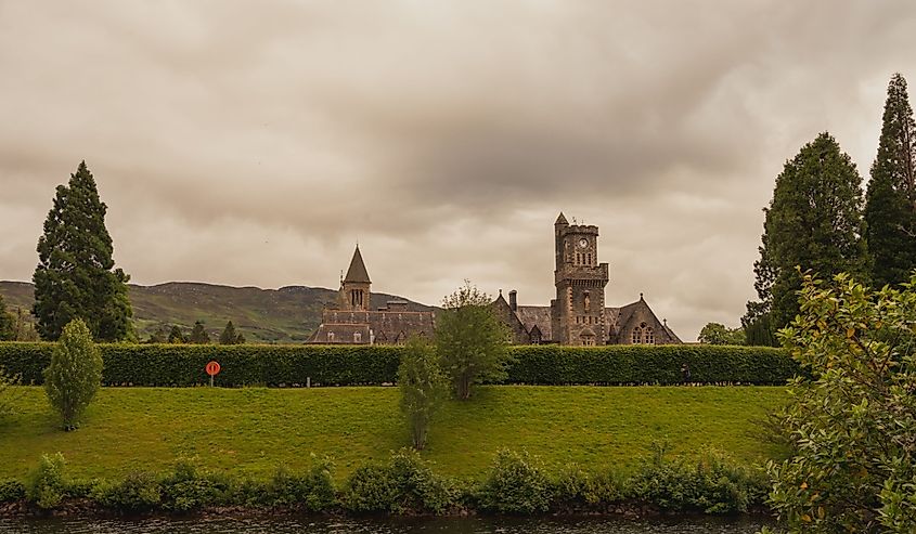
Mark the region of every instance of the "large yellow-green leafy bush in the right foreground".
<instances>
[{"instance_id":1,"label":"large yellow-green leafy bush in the right foreground","mask_svg":"<svg viewBox=\"0 0 916 534\"><path fill-rule=\"evenodd\" d=\"M869 292L804 276L801 315L780 333L813 379L782 416L795 456L771 465L770 503L791 532L916 528L916 277Z\"/></svg>"}]
</instances>

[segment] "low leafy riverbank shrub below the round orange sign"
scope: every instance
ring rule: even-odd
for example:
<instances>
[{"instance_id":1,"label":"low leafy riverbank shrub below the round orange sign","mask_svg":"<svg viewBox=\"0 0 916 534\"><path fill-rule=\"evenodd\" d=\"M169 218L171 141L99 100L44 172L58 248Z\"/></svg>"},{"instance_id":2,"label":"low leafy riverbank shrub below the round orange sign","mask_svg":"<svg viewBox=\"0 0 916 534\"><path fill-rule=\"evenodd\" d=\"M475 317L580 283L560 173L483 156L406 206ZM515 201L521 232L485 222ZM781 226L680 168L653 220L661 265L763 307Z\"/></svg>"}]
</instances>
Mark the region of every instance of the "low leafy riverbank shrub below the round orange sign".
<instances>
[{"instance_id":1,"label":"low leafy riverbank shrub below the round orange sign","mask_svg":"<svg viewBox=\"0 0 916 534\"><path fill-rule=\"evenodd\" d=\"M186 512L228 504L231 479L225 474L197 470L191 460L179 460L159 483L162 506L168 511Z\"/></svg>"}]
</instances>

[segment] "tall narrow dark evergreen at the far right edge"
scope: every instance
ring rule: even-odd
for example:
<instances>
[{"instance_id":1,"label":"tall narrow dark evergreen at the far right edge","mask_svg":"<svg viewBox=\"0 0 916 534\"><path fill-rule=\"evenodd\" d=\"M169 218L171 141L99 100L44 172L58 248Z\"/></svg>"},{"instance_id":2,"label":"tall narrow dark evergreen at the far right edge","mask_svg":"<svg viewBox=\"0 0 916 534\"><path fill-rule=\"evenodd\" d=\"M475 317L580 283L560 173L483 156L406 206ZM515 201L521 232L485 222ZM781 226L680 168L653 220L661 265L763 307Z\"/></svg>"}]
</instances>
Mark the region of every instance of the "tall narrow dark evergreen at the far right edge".
<instances>
[{"instance_id":1,"label":"tall narrow dark evergreen at the far right edge","mask_svg":"<svg viewBox=\"0 0 916 534\"><path fill-rule=\"evenodd\" d=\"M907 282L916 268L916 122L899 74L888 84L882 122L865 196L875 287Z\"/></svg>"}]
</instances>

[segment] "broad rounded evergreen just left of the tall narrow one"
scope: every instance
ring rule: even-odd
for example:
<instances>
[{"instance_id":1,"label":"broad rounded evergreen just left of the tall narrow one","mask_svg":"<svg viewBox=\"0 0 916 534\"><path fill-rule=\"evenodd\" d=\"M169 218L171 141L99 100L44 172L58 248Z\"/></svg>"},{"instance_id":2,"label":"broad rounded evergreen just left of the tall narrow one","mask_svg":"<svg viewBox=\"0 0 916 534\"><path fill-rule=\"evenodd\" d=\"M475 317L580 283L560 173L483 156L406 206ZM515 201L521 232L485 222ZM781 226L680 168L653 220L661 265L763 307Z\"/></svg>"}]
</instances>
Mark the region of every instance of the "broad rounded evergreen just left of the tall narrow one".
<instances>
[{"instance_id":1,"label":"broad rounded evergreen just left of the tall narrow one","mask_svg":"<svg viewBox=\"0 0 916 534\"><path fill-rule=\"evenodd\" d=\"M852 159L826 132L786 161L764 209L763 243L753 264L760 301L748 303L746 330L769 322L773 333L795 318L801 289L797 268L823 277L841 272L864 277L868 258L861 185Z\"/></svg>"}]
</instances>

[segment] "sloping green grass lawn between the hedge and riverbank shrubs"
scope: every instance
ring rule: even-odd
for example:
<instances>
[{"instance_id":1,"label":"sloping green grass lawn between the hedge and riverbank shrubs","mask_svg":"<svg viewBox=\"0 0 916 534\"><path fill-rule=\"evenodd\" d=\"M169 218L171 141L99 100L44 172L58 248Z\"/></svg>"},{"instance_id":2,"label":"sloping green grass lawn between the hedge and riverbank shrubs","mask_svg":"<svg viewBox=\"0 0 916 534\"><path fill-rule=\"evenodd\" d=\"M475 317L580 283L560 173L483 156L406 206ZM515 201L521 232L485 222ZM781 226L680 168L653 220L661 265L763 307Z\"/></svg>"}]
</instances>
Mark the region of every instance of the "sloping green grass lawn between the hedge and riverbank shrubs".
<instances>
[{"instance_id":1,"label":"sloping green grass lawn between the hedge and riverbank shrubs","mask_svg":"<svg viewBox=\"0 0 916 534\"><path fill-rule=\"evenodd\" d=\"M18 414L0 422L0 478L22 477L62 452L74 477L167 469L179 456L266 474L282 464L335 459L338 476L408 444L396 388L103 388L82 428L63 432L41 388L18 388ZM759 422L785 388L494 386L450 401L423 456L446 474L477 476L501 447L552 464L632 466L653 441L675 454L705 447L741 463L782 451Z\"/></svg>"}]
</instances>

